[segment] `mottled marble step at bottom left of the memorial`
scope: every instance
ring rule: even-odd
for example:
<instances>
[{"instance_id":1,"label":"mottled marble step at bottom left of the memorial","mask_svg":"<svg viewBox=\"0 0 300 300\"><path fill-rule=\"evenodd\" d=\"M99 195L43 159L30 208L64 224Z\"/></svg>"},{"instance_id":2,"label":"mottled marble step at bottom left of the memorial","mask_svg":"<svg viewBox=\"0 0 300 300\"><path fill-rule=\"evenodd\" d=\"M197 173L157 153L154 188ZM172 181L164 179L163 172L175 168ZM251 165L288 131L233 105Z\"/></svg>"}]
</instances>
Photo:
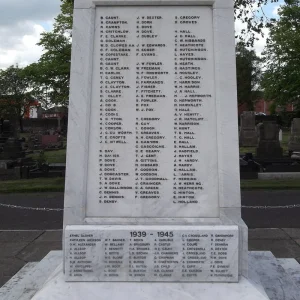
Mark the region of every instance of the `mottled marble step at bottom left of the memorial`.
<instances>
[{"instance_id":1,"label":"mottled marble step at bottom left of the memorial","mask_svg":"<svg viewBox=\"0 0 300 300\"><path fill-rule=\"evenodd\" d=\"M51 251L40 262L26 264L0 288L0 299L30 300L61 263L62 251Z\"/></svg>"}]
</instances>

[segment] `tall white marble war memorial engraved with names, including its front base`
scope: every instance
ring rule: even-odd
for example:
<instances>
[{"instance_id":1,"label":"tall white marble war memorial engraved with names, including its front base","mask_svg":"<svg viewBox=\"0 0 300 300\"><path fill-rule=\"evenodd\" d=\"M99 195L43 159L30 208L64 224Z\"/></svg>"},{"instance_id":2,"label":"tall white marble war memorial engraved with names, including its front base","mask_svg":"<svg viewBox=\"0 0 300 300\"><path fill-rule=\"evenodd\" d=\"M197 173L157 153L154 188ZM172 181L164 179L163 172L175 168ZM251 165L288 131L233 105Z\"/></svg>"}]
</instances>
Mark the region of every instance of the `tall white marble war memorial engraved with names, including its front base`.
<instances>
[{"instance_id":1,"label":"tall white marble war memorial engraved with names, including its front base","mask_svg":"<svg viewBox=\"0 0 300 300\"><path fill-rule=\"evenodd\" d=\"M73 299L88 281L91 299L205 300L218 286L223 299L266 299L241 280L233 1L75 0L72 47L64 279L74 289L55 275L60 295L36 299Z\"/></svg>"}]
</instances>

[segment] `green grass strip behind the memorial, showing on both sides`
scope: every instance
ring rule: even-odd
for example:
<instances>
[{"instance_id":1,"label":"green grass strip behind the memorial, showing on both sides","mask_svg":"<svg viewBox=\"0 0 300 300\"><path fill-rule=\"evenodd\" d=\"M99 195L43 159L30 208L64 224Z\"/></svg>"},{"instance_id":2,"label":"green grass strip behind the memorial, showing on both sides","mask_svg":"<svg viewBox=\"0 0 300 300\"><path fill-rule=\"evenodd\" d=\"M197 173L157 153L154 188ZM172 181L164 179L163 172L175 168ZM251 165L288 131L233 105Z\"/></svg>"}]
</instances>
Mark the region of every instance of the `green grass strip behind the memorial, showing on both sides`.
<instances>
[{"instance_id":1,"label":"green grass strip behind the memorial, showing on both sides","mask_svg":"<svg viewBox=\"0 0 300 300\"><path fill-rule=\"evenodd\" d=\"M64 178L36 178L13 181L2 181L0 194L63 192ZM242 190L300 190L300 179L291 180L242 180Z\"/></svg>"}]
</instances>

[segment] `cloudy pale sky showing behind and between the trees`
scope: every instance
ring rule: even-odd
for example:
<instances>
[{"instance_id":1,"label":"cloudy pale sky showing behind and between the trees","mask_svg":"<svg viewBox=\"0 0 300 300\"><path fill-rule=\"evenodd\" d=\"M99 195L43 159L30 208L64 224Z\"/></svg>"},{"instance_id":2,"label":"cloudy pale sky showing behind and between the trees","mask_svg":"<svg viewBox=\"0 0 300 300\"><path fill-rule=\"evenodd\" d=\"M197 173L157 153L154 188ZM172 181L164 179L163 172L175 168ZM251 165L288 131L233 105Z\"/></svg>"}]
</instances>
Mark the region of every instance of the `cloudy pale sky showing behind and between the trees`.
<instances>
[{"instance_id":1,"label":"cloudy pale sky showing behind and between the trees","mask_svg":"<svg viewBox=\"0 0 300 300\"><path fill-rule=\"evenodd\" d=\"M60 11L60 0L0 0L0 69L12 64L26 66L39 59L42 48L36 43L40 34L50 31ZM268 16L277 14L278 4L266 8ZM243 28L236 23L236 30ZM268 34L265 30L266 36ZM255 44L258 54L265 45L260 38Z\"/></svg>"}]
</instances>

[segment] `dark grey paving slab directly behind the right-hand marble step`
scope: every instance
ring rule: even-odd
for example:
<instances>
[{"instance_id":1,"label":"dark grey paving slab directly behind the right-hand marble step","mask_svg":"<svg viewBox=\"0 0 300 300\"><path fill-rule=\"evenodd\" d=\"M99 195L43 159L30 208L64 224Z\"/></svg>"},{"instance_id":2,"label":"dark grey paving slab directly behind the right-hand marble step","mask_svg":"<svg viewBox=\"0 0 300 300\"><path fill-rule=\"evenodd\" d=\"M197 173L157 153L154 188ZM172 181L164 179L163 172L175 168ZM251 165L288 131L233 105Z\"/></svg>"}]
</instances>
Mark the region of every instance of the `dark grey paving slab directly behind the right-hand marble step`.
<instances>
[{"instance_id":1,"label":"dark grey paving slab directly behind the right-hand marble step","mask_svg":"<svg viewBox=\"0 0 300 300\"><path fill-rule=\"evenodd\" d=\"M271 251L277 258L300 257L300 245L293 240L249 240L249 251Z\"/></svg>"}]
</instances>

